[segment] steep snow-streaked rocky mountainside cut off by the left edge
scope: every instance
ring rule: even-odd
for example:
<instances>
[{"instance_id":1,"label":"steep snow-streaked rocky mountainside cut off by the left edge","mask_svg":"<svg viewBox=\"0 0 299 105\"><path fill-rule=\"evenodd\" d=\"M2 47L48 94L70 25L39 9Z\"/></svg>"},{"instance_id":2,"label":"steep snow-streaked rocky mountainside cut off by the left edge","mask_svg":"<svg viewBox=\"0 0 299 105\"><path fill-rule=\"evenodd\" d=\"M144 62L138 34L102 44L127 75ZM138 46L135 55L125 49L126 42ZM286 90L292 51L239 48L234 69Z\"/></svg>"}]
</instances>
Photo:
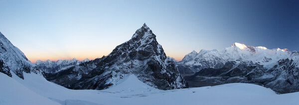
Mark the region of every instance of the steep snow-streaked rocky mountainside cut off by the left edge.
<instances>
[{"instance_id":1,"label":"steep snow-streaked rocky mountainside cut off by the left edge","mask_svg":"<svg viewBox=\"0 0 299 105\"><path fill-rule=\"evenodd\" d=\"M18 48L0 33L0 72L11 77L11 72L24 79L25 73L39 73L37 67L32 64Z\"/></svg>"}]
</instances>

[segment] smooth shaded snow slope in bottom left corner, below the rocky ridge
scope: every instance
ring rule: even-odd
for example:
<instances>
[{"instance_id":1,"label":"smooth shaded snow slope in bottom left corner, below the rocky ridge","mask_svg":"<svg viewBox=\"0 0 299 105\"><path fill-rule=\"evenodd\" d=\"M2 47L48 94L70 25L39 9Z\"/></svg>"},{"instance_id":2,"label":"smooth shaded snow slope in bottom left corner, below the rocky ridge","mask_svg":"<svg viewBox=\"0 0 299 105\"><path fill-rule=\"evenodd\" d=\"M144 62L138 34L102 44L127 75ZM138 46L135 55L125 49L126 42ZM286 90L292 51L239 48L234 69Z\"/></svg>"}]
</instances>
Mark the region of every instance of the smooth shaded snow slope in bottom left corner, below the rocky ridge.
<instances>
[{"instance_id":1,"label":"smooth shaded snow slope in bottom left corner, below the rocky ridge","mask_svg":"<svg viewBox=\"0 0 299 105\"><path fill-rule=\"evenodd\" d=\"M12 73L13 74L13 73ZM16 75L14 75L16 77ZM59 105L0 73L0 105Z\"/></svg>"}]
</instances>

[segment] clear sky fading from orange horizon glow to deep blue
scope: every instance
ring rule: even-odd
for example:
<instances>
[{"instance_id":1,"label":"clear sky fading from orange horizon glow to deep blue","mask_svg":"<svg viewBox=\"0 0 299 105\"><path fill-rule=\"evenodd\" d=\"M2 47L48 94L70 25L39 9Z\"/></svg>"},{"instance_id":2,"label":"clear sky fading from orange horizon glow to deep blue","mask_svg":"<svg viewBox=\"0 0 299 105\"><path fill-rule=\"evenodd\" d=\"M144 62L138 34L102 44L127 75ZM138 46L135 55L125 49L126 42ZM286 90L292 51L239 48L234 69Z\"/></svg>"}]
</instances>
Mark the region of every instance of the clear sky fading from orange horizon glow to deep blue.
<instances>
[{"instance_id":1,"label":"clear sky fading from orange horizon glow to deep blue","mask_svg":"<svg viewBox=\"0 0 299 105\"><path fill-rule=\"evenodd\" d=\"M0 32L31 62L108 55L143 23L176 60L234 42L299 51L298 0L0 0Z\"/></svg>"}]
</instances>

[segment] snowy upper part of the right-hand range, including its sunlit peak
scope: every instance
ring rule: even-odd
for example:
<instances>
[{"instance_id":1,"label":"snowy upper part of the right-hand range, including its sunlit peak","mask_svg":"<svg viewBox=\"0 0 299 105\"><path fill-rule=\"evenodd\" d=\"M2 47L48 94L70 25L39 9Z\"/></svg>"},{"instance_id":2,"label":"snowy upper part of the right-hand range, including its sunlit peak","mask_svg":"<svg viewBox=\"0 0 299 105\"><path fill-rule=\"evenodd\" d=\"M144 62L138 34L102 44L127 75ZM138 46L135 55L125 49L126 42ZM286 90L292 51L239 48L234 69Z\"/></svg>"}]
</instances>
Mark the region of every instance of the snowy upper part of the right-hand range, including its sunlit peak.
<instances>
[{"instance_id":1,"label":"snowy upper part of the right-hand range, including its sunlit peak","mask_svg":"<svg viewBox=\"0 0 299 105\"><path fill-rule=\"evenodd\" d=\"M227 47L220 52L217 50L201 50L199 53L194 53L194 51L192 51L180 61L180 64L203 66L202 63L200 63L203 62L203 59L206 59L204 60L205 62L213 62L213 60L217 59L222 63L231 60L245 60L254 63L263 63L264 65L277 62L280 59L292 59L292 53L293 52L287 49L268 49L262 46L254 47L246 46L241 43L234 43L231 47ZM212 63L211 65L215 65L215 63Z\"/></svg>"}]
</instances>

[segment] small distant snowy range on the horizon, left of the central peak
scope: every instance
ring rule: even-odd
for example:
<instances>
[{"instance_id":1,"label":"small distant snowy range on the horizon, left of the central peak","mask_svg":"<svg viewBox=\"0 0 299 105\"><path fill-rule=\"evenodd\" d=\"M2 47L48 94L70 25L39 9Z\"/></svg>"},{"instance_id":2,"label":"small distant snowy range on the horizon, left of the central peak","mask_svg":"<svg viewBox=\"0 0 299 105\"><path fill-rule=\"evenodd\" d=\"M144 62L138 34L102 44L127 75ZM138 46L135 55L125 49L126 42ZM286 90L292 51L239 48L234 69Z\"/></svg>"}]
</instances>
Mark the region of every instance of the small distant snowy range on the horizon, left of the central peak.
<instances>
[{"instance_id":1,"label":"small distant snowy range on the horizon, left of the central peak","mask_svg":"<svg viewBox=\"0 0 299 105\"><path fill-rule=\"evenodd\" d=\"M76 65L79 65L83 62L88 62L89 59L86 58L83 61L79 61L76 58L72 60L57 60L57 61L50 61L50 60L37 60L35 65L41 72L45 73L57 73L61 70L66 70Z\"/></svg>"}]
</instances>

